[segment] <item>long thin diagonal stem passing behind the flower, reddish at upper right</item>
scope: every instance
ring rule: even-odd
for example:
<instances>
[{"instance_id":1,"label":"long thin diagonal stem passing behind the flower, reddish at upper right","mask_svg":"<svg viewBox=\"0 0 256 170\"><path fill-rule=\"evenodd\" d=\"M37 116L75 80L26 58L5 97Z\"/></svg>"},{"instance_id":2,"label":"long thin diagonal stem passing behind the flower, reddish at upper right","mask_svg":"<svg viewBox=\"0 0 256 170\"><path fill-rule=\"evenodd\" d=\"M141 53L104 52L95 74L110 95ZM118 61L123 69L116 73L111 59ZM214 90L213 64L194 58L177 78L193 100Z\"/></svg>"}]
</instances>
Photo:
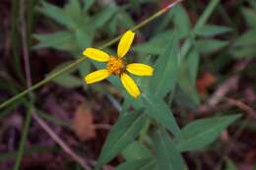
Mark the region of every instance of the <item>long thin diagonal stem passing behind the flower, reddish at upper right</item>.
<instances>
[{"instance_id":1,"label":"long thin diagonal stem passing behind the flower, reddish at upper right","mask_svg":"<svg viewBox=\"0 0 256 170\"><path fill-rule=\"evenodd\" d=\"M139 28L142 28L144 26L146 26L147 24L151 23L153 20L157 19L158 17L160 17L162 14L164 14L165 12L167 12L169 9L171 9L172 7L174 7L176 4L180 3L182 0L176 0L173 3L169 4L168 6L166 6L165 8L161 9L159 12L157 12L156 14L154 14L153 16L151 16L150 18L146 19L145 21L143 21L142 23L138 24L137 26L135 26L134 28L131 28L132 30L137 30ZM109 42L101 45L99 47L99 49L103 49L105 47L108 47L110 45L112 45L113 43L115 43L116 41L118 41L120 39L121 35L117 36L116 38L110 40ZM40 87L41 85L45 85L48 82L52 81L53 79L59 77L60 75L62 75L63 73L71 70L72 68L78 66L80 63L82 63L83 61L86 60L86 57L81 57L78 60L74 61L73 63L71 63L70 65L66 66L65 68L59 70L58 72L51 74L49 77L45 78L44 80L38 82L35 85L32 85L31 87L25 89L24 91L22 91L21 93L11 97L10 99L6 100L5 102L3 102L0 105L0 109L3 109L4 107L6 107L7 105L13 103L14 101L22 98L23 96L27 95L28 93L30 93L32 90Z\"/></svg>"}]
</instances>

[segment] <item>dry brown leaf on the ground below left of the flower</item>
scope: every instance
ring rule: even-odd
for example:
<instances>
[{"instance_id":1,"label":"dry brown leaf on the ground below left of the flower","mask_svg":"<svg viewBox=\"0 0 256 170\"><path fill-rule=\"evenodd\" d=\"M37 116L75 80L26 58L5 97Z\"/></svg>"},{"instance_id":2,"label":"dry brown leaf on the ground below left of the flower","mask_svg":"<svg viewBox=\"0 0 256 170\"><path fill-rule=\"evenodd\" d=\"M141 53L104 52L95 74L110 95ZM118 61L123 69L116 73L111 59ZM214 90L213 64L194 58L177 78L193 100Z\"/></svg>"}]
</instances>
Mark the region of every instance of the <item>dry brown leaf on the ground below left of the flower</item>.
<instances>
[{"instance_id":1,"label":"dry brown leaf on the ground below left of the flower","mask_svg":"<svg viewBox=\"0 0 256 170\"><path fill-rule=\"evenodd\" d=\"M94 115L84 104L81 104L75 113L73 128L78 138L83 142L96 138Z\"/></svg>"}]
</instances>

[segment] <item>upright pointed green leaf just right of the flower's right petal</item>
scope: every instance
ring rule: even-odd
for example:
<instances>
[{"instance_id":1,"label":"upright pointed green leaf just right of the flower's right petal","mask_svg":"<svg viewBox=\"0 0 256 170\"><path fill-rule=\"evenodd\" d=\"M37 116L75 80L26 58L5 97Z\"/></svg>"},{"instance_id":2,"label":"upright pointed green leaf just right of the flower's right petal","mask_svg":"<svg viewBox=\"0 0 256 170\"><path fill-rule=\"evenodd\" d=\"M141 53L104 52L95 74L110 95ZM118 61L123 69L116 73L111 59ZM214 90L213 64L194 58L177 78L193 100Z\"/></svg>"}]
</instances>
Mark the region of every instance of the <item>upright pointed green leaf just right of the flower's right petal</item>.
<instances>
[{"instance_id":1,"label":"upright pointed green leaf just right of the flower's right petal","mask_svg":"<svg viewBox=\"0 0 256 170\"><path fill-rule=\"evenodd\" d=\"M177 79L178 44L175 36L170 39L156 62L156 70L150 84L152 91L156 91L160 97L164 97L174 87Z\"/></svg>"}]
</instances>

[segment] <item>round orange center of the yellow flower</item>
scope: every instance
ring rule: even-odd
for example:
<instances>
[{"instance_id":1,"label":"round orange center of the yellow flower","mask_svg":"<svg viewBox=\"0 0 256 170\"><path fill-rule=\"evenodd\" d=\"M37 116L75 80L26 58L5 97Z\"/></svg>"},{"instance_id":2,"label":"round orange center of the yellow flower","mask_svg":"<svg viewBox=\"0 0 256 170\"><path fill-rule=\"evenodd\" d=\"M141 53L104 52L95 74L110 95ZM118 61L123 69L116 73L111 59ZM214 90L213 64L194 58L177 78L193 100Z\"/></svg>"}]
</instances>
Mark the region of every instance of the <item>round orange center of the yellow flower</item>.
<instances>
[{"instance_id":1,"label":"round orange center of the yellow flower","mask_svg":"<svg viewBox=\"0 0 256 170\"><path fill-rule=\"evenodd\" d=\"M124 62L120 58L111 56L106 69L113 75L121 75L124 71Z\"/></svg>"}]
</instances>

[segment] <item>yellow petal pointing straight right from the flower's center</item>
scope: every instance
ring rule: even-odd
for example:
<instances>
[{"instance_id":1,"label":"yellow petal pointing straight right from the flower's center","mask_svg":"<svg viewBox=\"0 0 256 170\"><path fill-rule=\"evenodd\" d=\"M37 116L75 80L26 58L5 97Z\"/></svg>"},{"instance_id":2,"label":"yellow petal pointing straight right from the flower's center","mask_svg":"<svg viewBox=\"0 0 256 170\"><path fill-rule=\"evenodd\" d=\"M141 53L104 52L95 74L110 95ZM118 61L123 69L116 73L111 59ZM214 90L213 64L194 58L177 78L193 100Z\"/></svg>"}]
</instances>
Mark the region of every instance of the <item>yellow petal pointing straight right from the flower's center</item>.
<instances>
[{"instance_id":1,"label":"yellow petal pointing straight right from the flower's center","mask_svg":"<svg viewBox=\"0 0 256 170\"><path fill-rule=\"evenodd\" d=\"M151 66L141 63L128 64L126 70L137 76L152 76L154 72Z\"/></svg>"}]
</instances>

